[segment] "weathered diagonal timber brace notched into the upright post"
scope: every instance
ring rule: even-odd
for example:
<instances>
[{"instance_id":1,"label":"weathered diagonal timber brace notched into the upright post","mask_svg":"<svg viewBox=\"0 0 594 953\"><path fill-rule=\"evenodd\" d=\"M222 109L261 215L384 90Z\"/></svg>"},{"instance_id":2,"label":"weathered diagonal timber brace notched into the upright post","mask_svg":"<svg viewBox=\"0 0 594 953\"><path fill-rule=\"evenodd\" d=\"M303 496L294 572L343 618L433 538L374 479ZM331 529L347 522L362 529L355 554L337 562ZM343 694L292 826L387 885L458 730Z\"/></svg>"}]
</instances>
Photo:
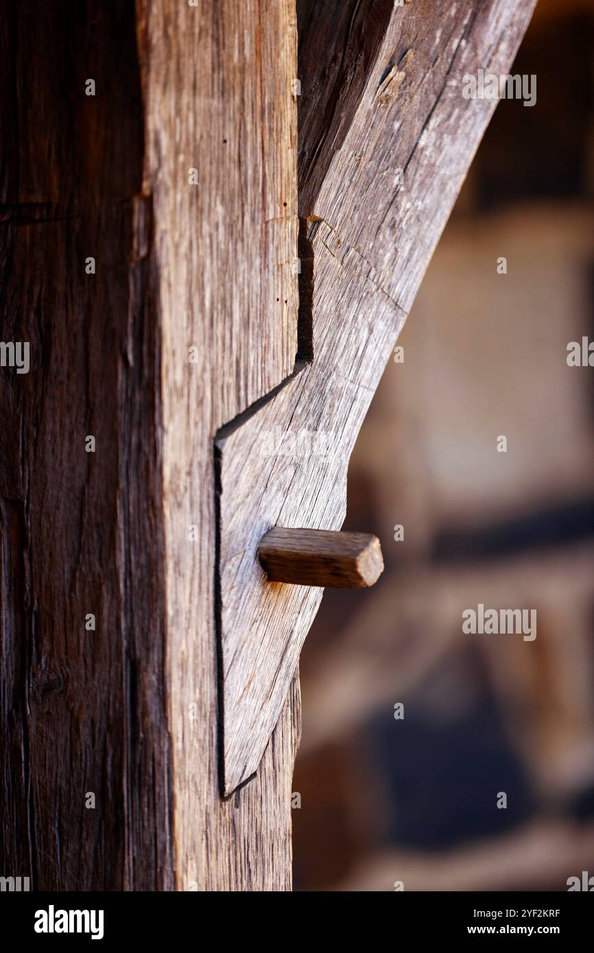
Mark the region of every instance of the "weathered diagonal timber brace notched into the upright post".
<instances>
[{"instance_id":1,"label":"weathered diagonal timber brace notched into the upright post","mask_svg":"<svg viewBox=\"0 0 594 953\"><path fill-rule=\"evenodd\" d=\"M298 5L313 359L218 440L227 792L256 773L321 598L268 582L257 544L276 525L340 528L358 429L496 105L464 99L462 77L507 72L533 8L415 0L362 18L351 5L349 19L332 2Z\"/></svg>"}]
</instances>

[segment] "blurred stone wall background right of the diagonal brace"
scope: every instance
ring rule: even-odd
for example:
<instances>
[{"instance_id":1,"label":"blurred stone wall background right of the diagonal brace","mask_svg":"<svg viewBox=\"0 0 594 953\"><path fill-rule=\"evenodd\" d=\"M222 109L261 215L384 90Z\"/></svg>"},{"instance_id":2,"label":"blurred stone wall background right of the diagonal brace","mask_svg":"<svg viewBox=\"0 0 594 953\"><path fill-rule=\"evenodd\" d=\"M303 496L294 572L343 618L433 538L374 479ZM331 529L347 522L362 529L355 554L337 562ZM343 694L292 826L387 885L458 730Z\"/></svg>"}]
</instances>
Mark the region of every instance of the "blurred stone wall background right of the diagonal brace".
<instances>
[{"instance_id":1,"label":"blurred stone wall background right of the diagonal brace","mask_svg":"<svg viewBox=\"0 0 594 953\"><path fill-rule=\"evenodd\" d=\"M386 569L301 655L296 889L594 874L593 52L594 0L541 0L537 105L500 103L360 433L344 529ZM479 603L537 638L463 634Z\"/></svg>"}]
</instances>

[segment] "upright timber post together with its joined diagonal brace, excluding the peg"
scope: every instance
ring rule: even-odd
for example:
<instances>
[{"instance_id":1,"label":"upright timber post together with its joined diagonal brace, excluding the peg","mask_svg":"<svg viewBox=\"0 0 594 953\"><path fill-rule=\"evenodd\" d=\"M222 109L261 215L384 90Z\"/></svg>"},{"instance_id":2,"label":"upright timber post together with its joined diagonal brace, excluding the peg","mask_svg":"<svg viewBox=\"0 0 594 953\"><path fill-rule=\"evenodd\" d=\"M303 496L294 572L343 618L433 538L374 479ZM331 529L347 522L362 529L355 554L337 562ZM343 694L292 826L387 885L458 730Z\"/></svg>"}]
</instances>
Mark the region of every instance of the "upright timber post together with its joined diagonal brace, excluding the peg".
<instances>
[{"instance_id":1,"label":"upright timber post together with its joined diagonal brace, excluding the peg","mask_svg":"<svg viewBox=\"0 0 594 953\"><path fill-rule=\"evenodd\" d=\"M533 2L297 6L0 24L2 342L29 345L0 368L1 856L36 890L291 887L320 594L257 544L339 530L495 107L461 76L508 70ZM303 433L326 450L275 442Z\"/></svg>"}]
</instances>

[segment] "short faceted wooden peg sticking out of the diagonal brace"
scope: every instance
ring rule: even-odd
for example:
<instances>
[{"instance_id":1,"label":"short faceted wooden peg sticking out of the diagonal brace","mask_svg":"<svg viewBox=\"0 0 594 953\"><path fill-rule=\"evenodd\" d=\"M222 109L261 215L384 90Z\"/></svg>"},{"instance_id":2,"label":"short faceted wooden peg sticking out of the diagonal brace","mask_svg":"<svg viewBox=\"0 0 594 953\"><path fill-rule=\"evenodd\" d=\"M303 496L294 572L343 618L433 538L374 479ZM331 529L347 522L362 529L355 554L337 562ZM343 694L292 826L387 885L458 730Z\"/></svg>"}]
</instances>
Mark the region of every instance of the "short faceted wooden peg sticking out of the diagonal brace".
<instances>
[{"instance_id":1,"label":"short faceted wooden peg sticking out of the diagonal brace","mask_svg":"<svg viewBox=\"0 0 594 953\"><path fill-rule=\"evenodd\" d=\"M275 526L257 548L269 582L364 589L383 572L379 539L369 533Z\"/></svg>"}]
</instances>

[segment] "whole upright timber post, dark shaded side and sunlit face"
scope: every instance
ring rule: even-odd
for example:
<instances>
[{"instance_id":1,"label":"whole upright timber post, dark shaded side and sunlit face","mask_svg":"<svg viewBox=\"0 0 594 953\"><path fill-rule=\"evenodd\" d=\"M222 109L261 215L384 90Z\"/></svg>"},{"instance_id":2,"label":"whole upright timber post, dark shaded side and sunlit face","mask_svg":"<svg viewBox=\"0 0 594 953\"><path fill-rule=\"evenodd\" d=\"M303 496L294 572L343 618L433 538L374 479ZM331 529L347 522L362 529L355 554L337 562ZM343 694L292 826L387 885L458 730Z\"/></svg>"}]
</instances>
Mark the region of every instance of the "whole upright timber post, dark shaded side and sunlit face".
<instances>
[{"instance_id":1,"label":"whole upright timber post, dark shaded side and sunlit face","mask_svg":"<svg viewBox=\"0 0 594 953\"><path fill-rule=\"evenodd\" d=\"M10 3L0 37L2 336L31 342L0 394L3 871L288 889L298 683L222 802L212 554L215 433L297 352L295 8Z\"/></svg>"}]
</instances>

